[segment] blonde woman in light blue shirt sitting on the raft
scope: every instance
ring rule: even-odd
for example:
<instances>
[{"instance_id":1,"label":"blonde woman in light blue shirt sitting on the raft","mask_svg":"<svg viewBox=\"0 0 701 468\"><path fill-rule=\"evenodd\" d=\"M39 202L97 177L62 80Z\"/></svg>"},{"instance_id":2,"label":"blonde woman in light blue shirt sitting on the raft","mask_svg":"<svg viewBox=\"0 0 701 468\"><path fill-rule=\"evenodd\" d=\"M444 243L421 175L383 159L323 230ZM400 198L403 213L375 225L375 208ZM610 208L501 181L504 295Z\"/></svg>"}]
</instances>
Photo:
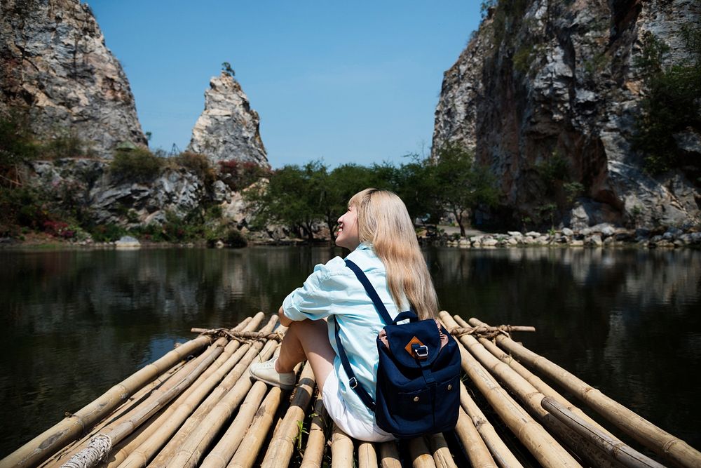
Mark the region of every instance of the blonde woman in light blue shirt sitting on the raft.
<instances>
[{"instance_id":1,"label":"blonde woman in light blue shirt sitting on the raft","mask_svg":"<svg viewBox=\"0 0 701 468\"><path fill-rule=\"evenodd\" d=\"M437 314L437 298L426 261L416 241L407 207L392 192L365 189L348 202L339 218L336 245L351 250L393 318L413 307L419 319ZM376 337L385 325L353 271L340 257L317 265L304 286L285 297L278 312L288 326L280 353L251 366L254 378L292 389L294 366L308 360L332 420L349 436L362 441L389 441L374 413L348 384L336 350L334 327L360 385L375 397L379 356Z\"/></svg>"}]
</instances>

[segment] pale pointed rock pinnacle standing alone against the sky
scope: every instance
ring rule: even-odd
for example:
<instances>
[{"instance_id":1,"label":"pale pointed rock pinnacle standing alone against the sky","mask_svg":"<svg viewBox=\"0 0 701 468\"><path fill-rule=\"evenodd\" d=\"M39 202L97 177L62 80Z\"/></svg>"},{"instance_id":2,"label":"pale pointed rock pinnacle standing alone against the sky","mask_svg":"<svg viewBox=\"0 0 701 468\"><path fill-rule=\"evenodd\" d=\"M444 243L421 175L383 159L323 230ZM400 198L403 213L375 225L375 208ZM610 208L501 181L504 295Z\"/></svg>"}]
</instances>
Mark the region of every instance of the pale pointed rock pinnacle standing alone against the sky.
<instances>
[{"instance_id":1,"label":"pale pointed rock pinnacle standing alone against the sky","mask_svg":"<svg viewBox=\"0 0 701 468\"><path fill-rule=\"evenodd\" d=\"M215 163L236 160L270 167L259 121L238 81L222 72L210 80L205 110L192 129L187 149Z\"/></svg>"}]
</instances>

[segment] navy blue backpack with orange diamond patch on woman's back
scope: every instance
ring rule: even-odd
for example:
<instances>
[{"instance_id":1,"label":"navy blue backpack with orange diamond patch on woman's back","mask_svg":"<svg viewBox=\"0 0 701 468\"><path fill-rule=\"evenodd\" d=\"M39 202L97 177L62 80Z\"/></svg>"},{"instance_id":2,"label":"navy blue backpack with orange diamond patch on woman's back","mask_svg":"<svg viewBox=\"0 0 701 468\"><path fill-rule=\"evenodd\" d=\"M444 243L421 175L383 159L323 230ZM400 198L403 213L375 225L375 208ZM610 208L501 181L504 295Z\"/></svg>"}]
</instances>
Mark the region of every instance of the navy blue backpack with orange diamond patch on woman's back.
<instances>
[{"instance_id":1,"label":"navy blue backpack with orange diamond patch on woman's back","mask_svg":"<svg viewBox=\"0 0 701 468\"><path fill-rule=\"evenodd\" d=\"M336 345L351 388L375 413L377 425L398 439L454 429L460 408L461 359L456 341L437 321L418 320L413 310L392 320L362 269L351 260L346 260L346 266L358 276L386 324L377 338L380 362L373 401L355 378L336 321ZM407 319L409 323L397 323ZM447 338L444 345L441 337L444 342Z\"/></svg>"}]
</instances>

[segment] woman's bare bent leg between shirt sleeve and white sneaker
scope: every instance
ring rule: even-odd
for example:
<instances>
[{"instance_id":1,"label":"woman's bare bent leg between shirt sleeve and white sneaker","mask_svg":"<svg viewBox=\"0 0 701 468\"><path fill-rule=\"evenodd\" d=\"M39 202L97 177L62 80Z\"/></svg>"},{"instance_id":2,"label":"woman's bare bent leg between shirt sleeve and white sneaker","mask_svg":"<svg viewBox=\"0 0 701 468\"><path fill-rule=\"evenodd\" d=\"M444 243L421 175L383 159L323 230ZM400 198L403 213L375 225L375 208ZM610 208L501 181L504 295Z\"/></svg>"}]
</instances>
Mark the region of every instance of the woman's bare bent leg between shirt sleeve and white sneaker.
<instances>
[{"instance_id":1,"label":"woman's bare bent leg between shirt sleeve and white sneaker","mask_svg":"<svg viewBox=\"0 0 701 468\"><path fill-rule=\"evenodd\" d=\"M275 370L279 373L292 372L297 363L307 359L314 371L316 385L322 390L326 377L334 370L335 357L325 320L295 321L290 323L280 345Z\"/></svg>"}]
</instances>

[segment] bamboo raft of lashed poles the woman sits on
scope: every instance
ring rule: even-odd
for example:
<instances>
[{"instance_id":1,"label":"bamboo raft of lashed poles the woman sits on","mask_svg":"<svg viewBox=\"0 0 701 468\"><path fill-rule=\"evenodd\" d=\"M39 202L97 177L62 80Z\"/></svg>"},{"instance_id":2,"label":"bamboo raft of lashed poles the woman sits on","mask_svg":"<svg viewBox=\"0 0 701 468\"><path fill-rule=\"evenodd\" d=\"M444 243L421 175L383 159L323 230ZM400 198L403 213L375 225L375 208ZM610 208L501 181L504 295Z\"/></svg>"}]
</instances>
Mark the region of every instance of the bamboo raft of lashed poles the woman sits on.
<instances>
[{"instance_id":1,"label":"bamboo raft of lashed poles the woman sits on","mask_svg":"<svg viewBox=\"0 0 701 468\"><path fill-rule=\"evenodd\" d=\"M440 319L458 338L470 388L461 385L454 432L355 441L329 422L311 366L298 366L294 392L252 382L248 367L269 359L286 330L276 328L277 316L261 326L259 312L231 330L193 329L198 337L67 413L0 460L0 468L701 467L701 453L687 443L510 337L533 328L489 327L447 312Z\"/></svg>"}]
</instances>

